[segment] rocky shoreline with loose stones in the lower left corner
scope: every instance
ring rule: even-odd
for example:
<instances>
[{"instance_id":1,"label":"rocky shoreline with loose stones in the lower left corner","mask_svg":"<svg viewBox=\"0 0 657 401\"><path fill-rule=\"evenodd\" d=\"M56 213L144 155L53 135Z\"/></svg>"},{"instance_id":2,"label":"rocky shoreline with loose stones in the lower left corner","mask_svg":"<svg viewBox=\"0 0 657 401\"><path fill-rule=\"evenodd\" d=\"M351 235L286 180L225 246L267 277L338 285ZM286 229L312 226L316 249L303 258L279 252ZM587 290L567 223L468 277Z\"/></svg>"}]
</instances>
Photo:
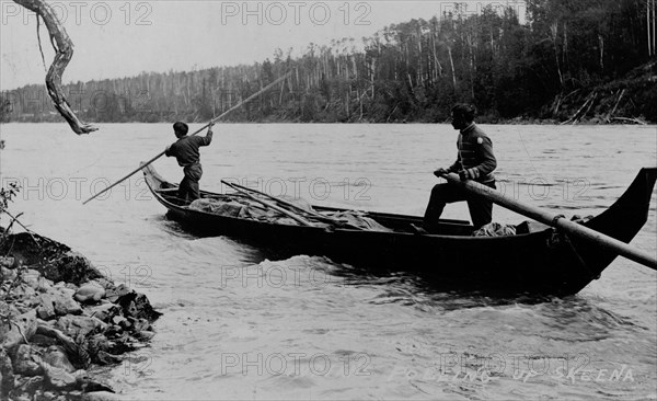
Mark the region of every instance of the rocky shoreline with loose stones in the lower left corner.
<instances>
[{"instance_id":1,"label":"rocky shoreline with loose stones in the lower left corner","mask_svg":"<svg viewBox=\"0 0 657 401\"><path fill-rule=\"evenodd\" d=\"M0 237L0 400L118 399L87 370L143 347L160 314L62 243Z\"/></svg>"}]
</instances>

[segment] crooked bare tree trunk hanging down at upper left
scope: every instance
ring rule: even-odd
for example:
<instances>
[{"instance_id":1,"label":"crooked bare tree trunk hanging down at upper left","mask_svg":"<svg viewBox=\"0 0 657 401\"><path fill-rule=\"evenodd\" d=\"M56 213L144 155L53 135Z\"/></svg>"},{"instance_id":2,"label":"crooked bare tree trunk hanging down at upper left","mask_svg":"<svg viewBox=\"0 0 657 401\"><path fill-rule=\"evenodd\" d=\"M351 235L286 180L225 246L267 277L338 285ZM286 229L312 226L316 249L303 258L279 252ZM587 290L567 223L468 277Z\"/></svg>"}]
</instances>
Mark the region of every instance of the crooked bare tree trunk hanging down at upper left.
<instances>
[{"instance_id":1,"label":"crooked bare tree trunk hanging down at upper left","mask_svg":"<svg viewBox=\"0 0 657 401\"><path fill-rule=\"evenodd\" d=\"M14 0L14 2L35 12L37 18L41 16L44 20L46 27L48 28L50 43L53 44L56 54L55 59L48 69L48 73L46 75L46 88L55 108L69 123L71 129L76 134L89 134L97 130L99 128L81 122L78 116L76 116L76 113L73 113L64 95L61 76L73 57L73 42L57 19L55 11L44 0Z\"/></svg>"}]
</instances>

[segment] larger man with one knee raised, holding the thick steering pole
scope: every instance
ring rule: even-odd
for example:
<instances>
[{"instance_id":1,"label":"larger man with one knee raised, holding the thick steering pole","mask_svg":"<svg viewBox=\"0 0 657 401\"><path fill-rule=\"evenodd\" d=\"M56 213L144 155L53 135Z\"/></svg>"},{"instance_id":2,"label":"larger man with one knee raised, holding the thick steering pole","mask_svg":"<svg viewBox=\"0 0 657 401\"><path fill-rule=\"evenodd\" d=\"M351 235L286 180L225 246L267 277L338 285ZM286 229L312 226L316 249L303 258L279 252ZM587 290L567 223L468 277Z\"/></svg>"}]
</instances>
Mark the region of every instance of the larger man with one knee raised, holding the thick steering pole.
<instances>
[{"instance_id":1,"label":"larger man with one knee raised, holding the thick steering pole","mask_svg":"<svg viewBox=\"0 0 657 401\"><path fill-rule=\"evenodd\" d=\"M451 111L451 124L459 129L457 140L457 161L447 169L438 169L434 175L440 177L447 173L459 173L461 180L474 180L495 188L493 171L497 160L493 154L491 138L474 124L475 108L469 104L457 104ZM451 184L437 184L424 216L424 228L431 232L438 227L438 219L446 204L465 200L474 229L480 229L493 219L493 203L481 196L470 194Z\"/></svg>"}]
</instances>

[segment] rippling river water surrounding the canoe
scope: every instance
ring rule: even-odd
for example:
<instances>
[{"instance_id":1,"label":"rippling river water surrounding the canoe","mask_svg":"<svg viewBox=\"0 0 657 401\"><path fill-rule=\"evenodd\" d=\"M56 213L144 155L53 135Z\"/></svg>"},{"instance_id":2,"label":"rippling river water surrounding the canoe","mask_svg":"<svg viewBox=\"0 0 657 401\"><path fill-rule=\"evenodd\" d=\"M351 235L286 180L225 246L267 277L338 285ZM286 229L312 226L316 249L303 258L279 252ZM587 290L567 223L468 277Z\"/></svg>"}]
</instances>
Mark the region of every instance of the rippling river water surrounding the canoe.
<instances>
[{"instance_id":1,"label":"rippling river water surrounding the canoe","mask_svg":"<svg viewBox=\"0 0 657 401\"><path fill-rule=\"evenodd\" d=\"M602 211L641 167L657 165L655 126L482 127L507 194L567 216ZM657 399L657 273L646 267L618 259L577 296L526 303L324 257L263 260L234 239L181 230L140 175L82 206L173 141L169 125L106 124L83 137L65 124L0 130L2 184L23 186L11 210L164 313L148 347L97 369L128 399ZM431 171L456 157L448 125L215 131L201 187L219 192L230 177L364 210L422 215ZM172 159L155 167L181 179ZM655 199L633 241L652 253ZM445 211L468 216L465 205ZM494 220L523 218L496 207Z\"/></svg>"}]
</instances>

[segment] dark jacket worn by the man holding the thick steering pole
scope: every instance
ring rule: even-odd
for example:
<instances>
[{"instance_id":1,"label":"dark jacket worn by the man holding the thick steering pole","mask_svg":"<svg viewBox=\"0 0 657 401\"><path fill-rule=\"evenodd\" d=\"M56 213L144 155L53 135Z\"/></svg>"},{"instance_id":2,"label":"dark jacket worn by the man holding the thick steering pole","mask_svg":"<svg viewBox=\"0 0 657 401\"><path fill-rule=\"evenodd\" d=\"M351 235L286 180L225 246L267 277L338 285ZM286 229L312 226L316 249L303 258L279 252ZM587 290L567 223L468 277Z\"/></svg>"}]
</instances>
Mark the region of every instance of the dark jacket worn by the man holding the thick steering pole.
<instances>
[{"instance_id":1,"label":"dark jacket worn by the man holding the thick steering pole","mask_svg":"<svg viewBox=\"0 0 657 401\"><path fill-rule=\"evenodd\" d=\"M475 181L491 182L495 180L493 171L497 160L493 154L493 141L474 123L461 130L457 140L459 153L457 161L450 165L449 172L468 170Z\"/></svg>"}]
</instances>

